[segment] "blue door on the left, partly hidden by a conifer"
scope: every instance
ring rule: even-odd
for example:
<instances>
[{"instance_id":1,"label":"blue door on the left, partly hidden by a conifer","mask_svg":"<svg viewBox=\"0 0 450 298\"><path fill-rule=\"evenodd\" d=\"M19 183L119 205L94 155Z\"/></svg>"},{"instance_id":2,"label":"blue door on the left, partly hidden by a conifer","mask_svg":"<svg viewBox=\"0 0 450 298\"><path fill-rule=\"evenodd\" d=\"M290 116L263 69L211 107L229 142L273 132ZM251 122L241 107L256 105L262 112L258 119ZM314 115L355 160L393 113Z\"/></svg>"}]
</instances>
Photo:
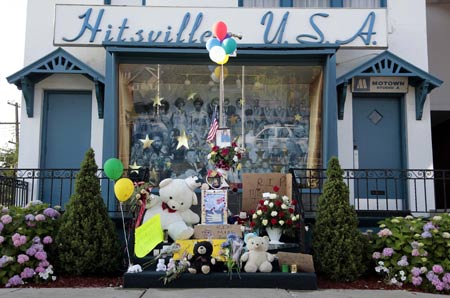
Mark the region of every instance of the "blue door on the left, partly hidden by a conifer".
<instances>
[{"instance_id":1,"label":"blue door on the left, partly hidden by a conifer","mask_svg":"<svg viewBox=\"0 0 450 298\"><path fill-rule=\"evenodd\" d=\"M47 91L44 95L41 142L40 199L64 206L75 185L79 169L91 144L92 94L77 91Z\"/></svg>"}]
</instances>

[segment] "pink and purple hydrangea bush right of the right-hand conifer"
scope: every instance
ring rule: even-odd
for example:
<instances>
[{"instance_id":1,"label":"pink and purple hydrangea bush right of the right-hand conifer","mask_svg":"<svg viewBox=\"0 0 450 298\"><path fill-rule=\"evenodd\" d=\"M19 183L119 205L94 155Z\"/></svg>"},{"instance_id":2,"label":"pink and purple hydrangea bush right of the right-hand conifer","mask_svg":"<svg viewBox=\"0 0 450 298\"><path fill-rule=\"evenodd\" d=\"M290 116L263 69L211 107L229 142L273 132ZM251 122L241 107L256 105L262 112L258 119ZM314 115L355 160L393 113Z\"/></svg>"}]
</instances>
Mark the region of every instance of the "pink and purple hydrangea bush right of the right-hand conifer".
<instances>
[{"instance_id":1,"label":"pink and purple hydrangea bush right of the right-hand conifer","mask_svg":"<svg viewBox=\"0 0 450 298\"><path fill-rule=\"evenodd\" d=\"M450 292L450 214L385 219L374 245L375 271L387 283Z\"/></svg>"}]
</instances>

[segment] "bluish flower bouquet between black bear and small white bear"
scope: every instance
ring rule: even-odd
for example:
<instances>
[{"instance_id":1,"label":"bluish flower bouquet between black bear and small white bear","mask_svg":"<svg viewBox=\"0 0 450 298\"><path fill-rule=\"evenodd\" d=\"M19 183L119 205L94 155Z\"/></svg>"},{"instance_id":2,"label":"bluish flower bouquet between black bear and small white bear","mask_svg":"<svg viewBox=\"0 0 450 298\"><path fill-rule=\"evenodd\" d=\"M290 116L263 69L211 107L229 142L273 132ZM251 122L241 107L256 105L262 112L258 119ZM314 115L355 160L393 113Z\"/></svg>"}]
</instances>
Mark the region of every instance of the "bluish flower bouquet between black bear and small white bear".
<instances>
[{"instance_id":1,"label":"bluish flower bouquet between black bear and small white bear","mask_svg":"<svg viewBox=\"0 0 450 298\"><path fill-rule=\"evenodd\" d=\"M233 270L235 270L240 278L241 272L241 255L244 250L244 241L235 233L228 233L227 240L220 246L219 255L224 259L230 279Z\"/></svg>"}]
</instances>

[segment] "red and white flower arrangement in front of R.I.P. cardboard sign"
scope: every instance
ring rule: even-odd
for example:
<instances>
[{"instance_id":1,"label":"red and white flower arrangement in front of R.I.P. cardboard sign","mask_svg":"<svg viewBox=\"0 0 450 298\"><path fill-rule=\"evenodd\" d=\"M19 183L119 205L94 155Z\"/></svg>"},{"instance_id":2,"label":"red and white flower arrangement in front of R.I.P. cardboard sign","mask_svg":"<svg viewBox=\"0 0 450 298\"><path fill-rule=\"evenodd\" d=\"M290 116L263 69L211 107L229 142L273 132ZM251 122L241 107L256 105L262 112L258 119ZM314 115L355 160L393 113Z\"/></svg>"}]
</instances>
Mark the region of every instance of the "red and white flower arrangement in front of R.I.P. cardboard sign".
<instances>
[{"instance_id":1,"label":"red and white flower arrangement in front of R.I.P. cardboard sign","mask_svg":"<svg viewBox=\"0 0 450 298\"><path fill-rule=\"evenodd\" d=\"M274 191L278 190L279 187L275 186ZM263 193L263 199L259 201L256 211L250 212L250 227L254 230L281 228L284 234L293 236L295 230L300 228L300 214L295 213L296 204L295 200L286 195Z\"/></svg>"}]
</instances>

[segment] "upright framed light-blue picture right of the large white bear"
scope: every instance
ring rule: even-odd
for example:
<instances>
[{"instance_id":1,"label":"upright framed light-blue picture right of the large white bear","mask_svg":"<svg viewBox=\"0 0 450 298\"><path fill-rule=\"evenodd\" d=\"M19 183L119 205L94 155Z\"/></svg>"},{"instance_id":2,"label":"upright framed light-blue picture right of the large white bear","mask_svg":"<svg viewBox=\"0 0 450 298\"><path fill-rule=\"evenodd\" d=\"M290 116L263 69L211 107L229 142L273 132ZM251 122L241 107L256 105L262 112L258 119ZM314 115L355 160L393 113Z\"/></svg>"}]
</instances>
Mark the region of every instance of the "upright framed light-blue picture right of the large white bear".
<instances>
[{"instance_id":1,"label":"upright framed light-blue picture right of the large white bear","mask_svg":"<svg viewBox=\"0 0 450 298\"><path fill-rule=\"evenodd\" d=\"M202 190L202 224L223 225L227 223L227 218L227 190Z\"/></svg>"}]
</instances>

